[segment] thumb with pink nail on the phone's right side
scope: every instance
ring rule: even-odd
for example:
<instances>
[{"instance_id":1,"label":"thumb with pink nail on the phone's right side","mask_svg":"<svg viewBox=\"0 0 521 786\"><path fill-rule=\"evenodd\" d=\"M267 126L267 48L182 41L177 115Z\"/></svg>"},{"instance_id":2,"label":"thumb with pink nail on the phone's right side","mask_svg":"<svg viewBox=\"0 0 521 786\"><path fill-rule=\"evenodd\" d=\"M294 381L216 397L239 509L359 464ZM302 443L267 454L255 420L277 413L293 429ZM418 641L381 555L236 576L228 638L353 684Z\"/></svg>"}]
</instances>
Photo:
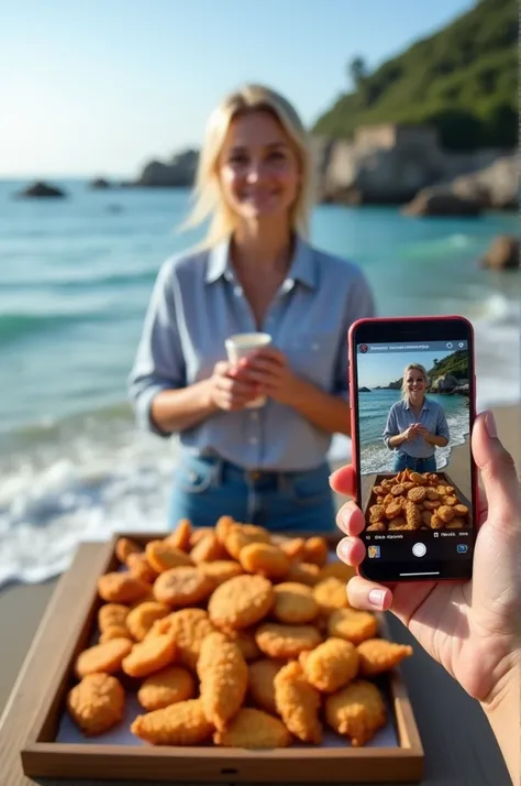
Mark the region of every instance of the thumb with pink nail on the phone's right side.
<instances>
[{"instance_id":1,"label":"thumb with pink nail on the phone's right side","mask_svg":"<svg viewBox=\"0 0 521 786\"><path fill-rule=\"evenodd\" d=\"M498 439L496 421L490 411L476 418L472 446L474 460L481 472L488 517L510 528L520 518L520 485L513 458Z\"/></svg>"}]
</instances>

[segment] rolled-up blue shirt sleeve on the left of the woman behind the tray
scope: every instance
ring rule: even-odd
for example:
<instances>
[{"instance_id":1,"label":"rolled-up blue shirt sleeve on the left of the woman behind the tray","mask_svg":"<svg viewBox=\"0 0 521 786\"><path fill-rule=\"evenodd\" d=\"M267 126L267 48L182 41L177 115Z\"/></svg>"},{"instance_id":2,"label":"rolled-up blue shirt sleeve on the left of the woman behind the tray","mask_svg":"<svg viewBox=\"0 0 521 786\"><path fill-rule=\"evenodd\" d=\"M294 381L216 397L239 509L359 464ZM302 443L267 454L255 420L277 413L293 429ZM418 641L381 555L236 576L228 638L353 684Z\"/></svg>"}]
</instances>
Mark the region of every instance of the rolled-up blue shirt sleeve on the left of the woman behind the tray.
<instances>
[{"instance_id":1,"label":"rolled-up blue shirt sleeve on the left of the woman behind the tray","mask_svg":"<svg viewBox=\"0 0 521 786\"><path fill-rule=\"evenodd\" d=\"M140 428L169 437L153 422L152 403L162 391L185 385L186 368L176 319L173 265L169 261L165 262L157 275L128 381L129 397Z\"/></svg>"}]
</instances>

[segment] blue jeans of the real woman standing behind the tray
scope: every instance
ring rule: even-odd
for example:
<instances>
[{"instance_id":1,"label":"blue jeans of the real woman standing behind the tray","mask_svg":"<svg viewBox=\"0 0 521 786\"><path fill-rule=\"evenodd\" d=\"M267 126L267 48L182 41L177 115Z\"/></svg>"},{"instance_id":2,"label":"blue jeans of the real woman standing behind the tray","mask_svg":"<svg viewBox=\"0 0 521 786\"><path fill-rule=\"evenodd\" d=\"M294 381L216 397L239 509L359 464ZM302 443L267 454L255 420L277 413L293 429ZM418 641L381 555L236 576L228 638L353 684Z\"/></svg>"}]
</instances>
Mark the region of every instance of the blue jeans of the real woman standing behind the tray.
<instances>
[{"instance_id":1,"label":"blue jeans of the real woman standing behind the tray","mask_svg":"<svg viewBox=\"0 0 521 786\"><path fill-rule=\"evenodd\" d=\"M334 532L329 476L325 462L303 472L255 472L221 458L182 456L174 474L169 526L180 518L214 526L230 515L276 532Z\"/></svg>"}]
</instances>

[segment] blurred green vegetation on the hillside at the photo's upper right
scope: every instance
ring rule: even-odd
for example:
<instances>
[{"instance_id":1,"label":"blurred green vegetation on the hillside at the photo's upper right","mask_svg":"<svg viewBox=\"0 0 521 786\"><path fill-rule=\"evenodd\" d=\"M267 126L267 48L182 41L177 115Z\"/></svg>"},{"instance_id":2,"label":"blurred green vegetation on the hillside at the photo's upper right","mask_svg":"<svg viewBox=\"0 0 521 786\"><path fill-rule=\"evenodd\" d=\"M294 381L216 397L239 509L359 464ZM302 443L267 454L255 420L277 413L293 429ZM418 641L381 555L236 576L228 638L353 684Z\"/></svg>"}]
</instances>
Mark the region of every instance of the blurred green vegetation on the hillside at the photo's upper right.
<instances>
[{"instance_id":1,"label":"blurred green vegetation on the hillside at the photo's upper right","mask_svg":"<svg viewBox=\"0 0 521 786\"><path fill-rule=\"evenodd\" d=\"M359 125L429 123L452 150L518 142L518 4L480 0L441 32L373 74L351 64L355 92L342 96L313 133L351 138Z\"/></svg>"}]
</instances>

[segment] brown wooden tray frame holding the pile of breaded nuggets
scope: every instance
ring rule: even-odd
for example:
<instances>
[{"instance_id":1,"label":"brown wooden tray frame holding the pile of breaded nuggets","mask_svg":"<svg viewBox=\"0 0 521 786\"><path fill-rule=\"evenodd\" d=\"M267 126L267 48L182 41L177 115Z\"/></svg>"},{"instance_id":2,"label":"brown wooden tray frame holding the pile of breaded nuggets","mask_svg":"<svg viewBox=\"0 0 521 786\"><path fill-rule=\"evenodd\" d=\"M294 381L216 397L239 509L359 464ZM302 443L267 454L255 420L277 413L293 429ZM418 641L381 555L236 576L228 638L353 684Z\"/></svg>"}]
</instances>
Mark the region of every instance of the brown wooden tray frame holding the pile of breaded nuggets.
<instances>
[{"instance_id":1,"label":"brown wooden tray frame holding the pile of breaded nuggets","mask_svg":"<svg viewBox=\"0 0 521 786\"><path fill-rule=\"evenodd\" d=\"M43 699L21 750L23 772L30 777L102 778L186 783L392 783L418 782L423 773L423 749L412 708L399 675L389 677L389 706L398 744L380 747L302 746L250 751L231 747L174 747L143 744L56 742L73 666L92 637L101 601L97 580L117 569L114 546L128 536L145 544L165 533L119 533L104 545L101 570L86 566L78 576L77 614L52 621L67 637L63 656L48 665ZM310 533L307 533L310 536ZM332 545L337 538L332 538ZM99 563L98 563L99 565ZM385 619L380 632L390 637Z\"/></svg>"}]
</instances>

